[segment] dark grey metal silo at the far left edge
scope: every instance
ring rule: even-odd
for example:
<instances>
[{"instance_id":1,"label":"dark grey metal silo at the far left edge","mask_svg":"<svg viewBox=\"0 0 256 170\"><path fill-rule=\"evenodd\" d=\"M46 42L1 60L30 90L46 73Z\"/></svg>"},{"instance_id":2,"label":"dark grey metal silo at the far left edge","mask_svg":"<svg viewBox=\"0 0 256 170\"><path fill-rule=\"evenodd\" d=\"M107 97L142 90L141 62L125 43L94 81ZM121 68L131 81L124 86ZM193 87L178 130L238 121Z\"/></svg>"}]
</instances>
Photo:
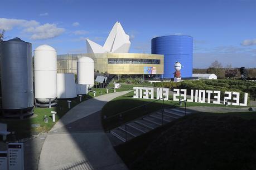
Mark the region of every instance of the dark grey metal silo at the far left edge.
<instances>
[{"instance_id":1,"label":"dark grey metal silo at the far left edge","mask_svg":"<svg viewBox=\"0 0 256 170\"><path fill-rule=\"evenodd\" d=\"M33 112L32 44L20 38L0 42L2 108L7 117Z\"/></svg>"}]
</instances>

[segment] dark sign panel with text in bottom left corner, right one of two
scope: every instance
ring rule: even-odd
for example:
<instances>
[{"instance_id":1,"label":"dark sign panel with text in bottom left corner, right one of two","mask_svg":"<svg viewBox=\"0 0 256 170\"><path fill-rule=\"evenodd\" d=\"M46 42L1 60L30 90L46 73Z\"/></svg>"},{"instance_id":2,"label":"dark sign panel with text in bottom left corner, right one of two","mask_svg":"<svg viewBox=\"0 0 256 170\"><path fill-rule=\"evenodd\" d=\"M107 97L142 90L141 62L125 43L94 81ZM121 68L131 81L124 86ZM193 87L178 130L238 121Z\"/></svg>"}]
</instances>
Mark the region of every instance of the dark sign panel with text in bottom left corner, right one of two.
<instances>
[{"instance_id":1,"label":"dark sign panel with text in bottom left corner, right one of two","mask_svg":"<svg viewBox=\"0 0 256 170\"><path fill-rule=\"evenodd\" d=\"M9 170L24 170L23 143L8 143Z\"/></svg>"}]
</instances>

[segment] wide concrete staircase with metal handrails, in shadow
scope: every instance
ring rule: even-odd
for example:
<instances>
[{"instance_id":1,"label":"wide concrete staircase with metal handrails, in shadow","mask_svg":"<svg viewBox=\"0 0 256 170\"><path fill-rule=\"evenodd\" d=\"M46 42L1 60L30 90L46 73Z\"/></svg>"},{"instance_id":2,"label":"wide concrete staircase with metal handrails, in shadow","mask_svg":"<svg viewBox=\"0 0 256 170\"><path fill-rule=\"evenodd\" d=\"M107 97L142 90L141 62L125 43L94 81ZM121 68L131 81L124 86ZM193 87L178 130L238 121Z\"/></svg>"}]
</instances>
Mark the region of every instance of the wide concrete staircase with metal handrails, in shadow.
<instances>
[{"instance_id":1,"label":"wide concrete staircase with metal handrails, in shadow","mask_svg":"<svg viewBox=\"0 0 256 170\"><path fill-rule=\"evenodd\" d=\"M186 114L190 114L187 112ZM153 112L139 119L123 124L110 131L110 141L114 145L127 142L135 137L141 136L143 133L152 131L152 129L169 123L177 118L185 116L184 108L171 108Z\"/></svg>"}]
</instances>

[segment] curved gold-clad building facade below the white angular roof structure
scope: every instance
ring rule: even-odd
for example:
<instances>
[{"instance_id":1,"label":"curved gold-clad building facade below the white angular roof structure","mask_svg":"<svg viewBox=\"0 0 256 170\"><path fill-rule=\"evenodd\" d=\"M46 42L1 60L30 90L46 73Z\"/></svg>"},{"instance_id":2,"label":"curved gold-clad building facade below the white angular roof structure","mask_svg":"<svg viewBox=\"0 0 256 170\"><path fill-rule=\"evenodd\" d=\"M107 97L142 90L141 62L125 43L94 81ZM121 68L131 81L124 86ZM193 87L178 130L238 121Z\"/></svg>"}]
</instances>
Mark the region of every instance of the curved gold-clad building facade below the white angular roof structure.
<instances>
[{"instance_id":1,"label":"curved gold-clad building facade below the white angular roof structure","mask_svg":"<svg viewBox=\"0 0 256 170\"><path fill-rule=\"evenodd\" d=\"M81 57L92 58L99 73L144 74L144 67L156 67L156 74L163 74L163 55L144 53L62 54L57 56L57 73L76 74L76 62Z\"/></svg>"}]
</instances>

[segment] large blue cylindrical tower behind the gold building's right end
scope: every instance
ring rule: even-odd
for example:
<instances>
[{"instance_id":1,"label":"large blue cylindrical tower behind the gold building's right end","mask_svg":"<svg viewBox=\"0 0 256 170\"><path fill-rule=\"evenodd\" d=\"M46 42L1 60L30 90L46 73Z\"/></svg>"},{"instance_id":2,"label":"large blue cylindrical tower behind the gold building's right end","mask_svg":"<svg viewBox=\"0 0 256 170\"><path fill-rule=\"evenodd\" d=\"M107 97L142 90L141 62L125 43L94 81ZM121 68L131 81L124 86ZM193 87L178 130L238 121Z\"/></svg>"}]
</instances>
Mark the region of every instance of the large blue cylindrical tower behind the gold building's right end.
<instances>
[{"instance_id":1,"label":"large blue cylindrical tower behind the gold building's right end","mask_svg":"<svg viewBox=\"0 0 256 170\"><path fill-rule=\"evenodd\" d=\"M181 77L192 77L193 38L184 35L156 37L151 40L151 53L164 55L163 78L173 78L175 62L180 62Z\"/></svg>"}]
</instances>

